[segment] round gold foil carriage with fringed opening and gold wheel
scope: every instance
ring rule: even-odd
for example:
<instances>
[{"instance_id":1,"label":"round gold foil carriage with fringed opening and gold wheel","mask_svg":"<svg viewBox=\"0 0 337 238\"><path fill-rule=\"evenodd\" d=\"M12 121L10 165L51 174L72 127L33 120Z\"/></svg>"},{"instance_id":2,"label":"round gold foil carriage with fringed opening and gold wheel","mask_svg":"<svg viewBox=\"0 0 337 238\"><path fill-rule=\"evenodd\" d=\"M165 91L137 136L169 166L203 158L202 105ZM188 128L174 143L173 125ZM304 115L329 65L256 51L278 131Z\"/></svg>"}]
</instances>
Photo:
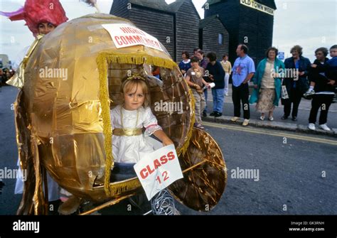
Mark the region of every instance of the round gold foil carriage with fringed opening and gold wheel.
<instances>
[{"instance_id":1,"label":"round gold foil carriage with fringed opening and gold wheel","mask_svg":"<svg viewBox=\"0 0 337 238\"><path fill-rule=\"evenodd\" d=\"M164 45L164 51L143 45L116 48L102 28L116 23L134 26L106 14L63 23L39 40L28 58L15 108L21 168L28 171L18 214L48 213L46 171L77 198L108 201L102 207L142 192L137 178L109 181L109 109L121 102L122 78L151 76L151 65L160 67L162 78L162 85L149 80L151 108L174 141L186 175L171 185L173 194L195 210L210 210L220 200L226 183L223 155L210 135L193 129L193 95L176 63ZM67 77L41 75L41 69L66 70ZM155 102L176 102L183 111L156 111Z\"/></svg>"}]
</instances>

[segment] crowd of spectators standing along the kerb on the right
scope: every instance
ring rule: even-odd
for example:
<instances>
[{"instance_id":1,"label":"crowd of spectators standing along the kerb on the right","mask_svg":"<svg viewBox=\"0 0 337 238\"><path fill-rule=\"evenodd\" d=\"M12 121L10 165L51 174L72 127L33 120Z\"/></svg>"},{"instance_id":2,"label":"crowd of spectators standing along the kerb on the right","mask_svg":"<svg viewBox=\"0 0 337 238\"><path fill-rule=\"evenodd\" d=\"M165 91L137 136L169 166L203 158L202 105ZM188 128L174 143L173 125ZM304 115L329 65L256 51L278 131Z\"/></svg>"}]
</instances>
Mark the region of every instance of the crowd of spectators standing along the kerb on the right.
<instances>
[{"instance_id":1,"label":"crowd of spectators standing along the kerb on the right","mask_svg":"<svg viewBox=\"0 0 337 238\"><path fill-rule=\"evenodd\" d=\"M277 48L267 49L266 57L255 63L248 55L247 45L237 45L237 59L231 65L228 55L218 61L213 52L205 55L203 50L196 48L193 55L183 51L183 60L179 68L191 87L196 101L196 124L203 129L202 117L208 116L207 99L208 90L211 88L213 96L213 112L210 117L223 115L223 104L228 96L228 84L232 75L232 102L234 113L231 121L238 121L243 111L242 126L247 126L250 121L250 104L256 103L256 110L260 112L260 120L274 121L273 112L279 106L279 101L284 106L282 120L287 120L290 115L297 121L301 98L311 99L311 112L309 116L309 129L316 130L316 117L321 109L319 128L331 131L327 126L328 109L336 93L337 80L337 45L327 48L318 48L315 51L316 60L311 64L304 58L300 45L291 48L291 57L279 60ZM329 60L327 58L330 51ZM250 95L249 82L252 81L254 90Z\"/></svg>"}]
</instances>

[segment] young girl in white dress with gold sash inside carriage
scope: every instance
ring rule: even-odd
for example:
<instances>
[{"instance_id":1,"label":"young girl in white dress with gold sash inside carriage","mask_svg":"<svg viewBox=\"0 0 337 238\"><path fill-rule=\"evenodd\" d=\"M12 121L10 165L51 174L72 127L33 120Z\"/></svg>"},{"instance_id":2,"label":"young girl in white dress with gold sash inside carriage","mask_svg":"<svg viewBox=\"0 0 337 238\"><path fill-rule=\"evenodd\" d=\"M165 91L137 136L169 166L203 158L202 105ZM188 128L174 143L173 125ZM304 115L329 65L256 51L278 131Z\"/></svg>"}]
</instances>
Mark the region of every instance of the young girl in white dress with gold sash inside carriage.
<instances>
[{"instance_id":1,"label":"young girl in white dress with gold sash inside carriage","mask_svg":"<svg viewBox=\"0 0 337 238\"><path fill-rule=\"evenodd\" d=\"M124 80L121 93L124 104L110 111L112 154L116 163L137 163L146 153L154 151L144 136L154 134L164 146L173 144L151 112L149 87L143 77Z\"/></svg>"}]
</instances>

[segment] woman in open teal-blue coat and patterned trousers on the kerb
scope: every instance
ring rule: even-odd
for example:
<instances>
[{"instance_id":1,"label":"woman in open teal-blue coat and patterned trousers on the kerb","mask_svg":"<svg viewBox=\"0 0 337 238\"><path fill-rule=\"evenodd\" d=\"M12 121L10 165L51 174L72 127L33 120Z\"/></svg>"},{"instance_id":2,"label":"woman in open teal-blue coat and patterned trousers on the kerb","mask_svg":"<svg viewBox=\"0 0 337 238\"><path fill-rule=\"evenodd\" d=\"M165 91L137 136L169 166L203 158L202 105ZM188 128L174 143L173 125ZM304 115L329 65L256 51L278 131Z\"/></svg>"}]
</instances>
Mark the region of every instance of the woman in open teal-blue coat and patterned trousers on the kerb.
<instances>
[{"instance_id":1,"label":"woman in open teal-blue coat and patterned trousers on the kerb","mask_svg":"<svg viewBox=\"0 0 337 238\"><path fill-rule=\"evenodd\" d=\"M250 104L257 102L256 109L261 112L260 119L268 112L269 121L274 121L273 112L279 105L281 97L281 75L284 72L284 63L277 58L277 48L268 48L267 58L261 60L253 77L255 90L250 97Z\"/></svg>"}]
</instances>

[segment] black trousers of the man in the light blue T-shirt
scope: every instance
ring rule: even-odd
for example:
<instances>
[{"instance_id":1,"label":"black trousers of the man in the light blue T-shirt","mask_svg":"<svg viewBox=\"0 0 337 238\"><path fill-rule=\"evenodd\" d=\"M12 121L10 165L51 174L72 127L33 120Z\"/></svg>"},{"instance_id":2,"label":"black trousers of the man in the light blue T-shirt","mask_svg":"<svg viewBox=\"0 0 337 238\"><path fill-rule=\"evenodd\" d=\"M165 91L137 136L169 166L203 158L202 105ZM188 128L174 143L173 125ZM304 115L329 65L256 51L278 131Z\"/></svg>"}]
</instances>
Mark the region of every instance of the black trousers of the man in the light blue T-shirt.
<instances>
[{"instance_id":1,"label":"black trousers of the man in the light blue T-shirt","mask_svg":"<svg viewBox=\"0 0 337 238\"><path fill-rule=\"evenodd\" d=\"M232 85L232 100L234 104L234 117L240 117L241 114L241 102L243 109L243 118L250 119L250 102L248 98L250 97L250 90L248 84L240 85L235 87Z\"/></svg>"}]
</instances>

